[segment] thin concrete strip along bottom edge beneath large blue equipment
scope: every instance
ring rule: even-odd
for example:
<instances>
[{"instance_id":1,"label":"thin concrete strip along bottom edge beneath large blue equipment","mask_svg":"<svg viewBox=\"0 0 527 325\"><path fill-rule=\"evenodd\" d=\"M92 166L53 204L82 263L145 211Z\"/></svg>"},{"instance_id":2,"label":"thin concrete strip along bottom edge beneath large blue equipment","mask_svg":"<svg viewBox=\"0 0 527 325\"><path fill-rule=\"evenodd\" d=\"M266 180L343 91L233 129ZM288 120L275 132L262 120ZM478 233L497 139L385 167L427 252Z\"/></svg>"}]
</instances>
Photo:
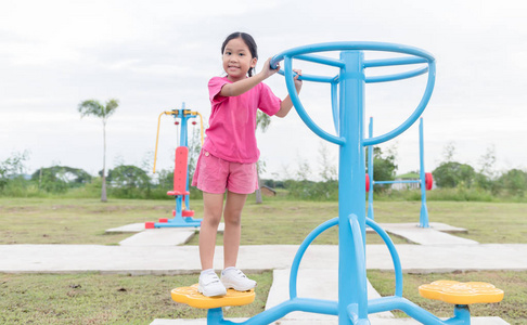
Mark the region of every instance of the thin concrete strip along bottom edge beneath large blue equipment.
<instances>
[{"instance_id":1,"label":"thin concrete strip along bottom edge beneath large blue equipment","mask_svg":"<svg viewBox=\"0 0 527 325\"><path fill-rule=\"evenodd\" d=\"M229 321L243 322L247 318L230 318ZM372 325L417 325L420 322L412 318L373 318L370 317ZM206 325L207 320L154 320L150 325ZM333 321L327 320L280 320L273 322L272 325L337 325L338 320L334 317ZM472 325L507 325L509 323L500 317L471 317Z\"/></svg>"}]
</instances>

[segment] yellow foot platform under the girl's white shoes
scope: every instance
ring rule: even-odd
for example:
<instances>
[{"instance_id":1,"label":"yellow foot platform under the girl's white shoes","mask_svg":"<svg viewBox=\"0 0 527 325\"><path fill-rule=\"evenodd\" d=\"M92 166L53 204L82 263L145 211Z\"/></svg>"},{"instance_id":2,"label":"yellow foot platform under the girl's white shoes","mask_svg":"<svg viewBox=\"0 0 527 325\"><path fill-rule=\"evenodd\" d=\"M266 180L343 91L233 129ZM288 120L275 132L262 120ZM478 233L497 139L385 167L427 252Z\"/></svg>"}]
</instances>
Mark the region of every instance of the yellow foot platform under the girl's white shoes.
<instances>
[{"instance_id":1,"label":"yellow foot platform under the girl's white shoes","mask_svg":"<svg viewBox=\"0 0 527 325\"><path fill-rule=\"evenodd\" d=\"M197 290L197 284L190 287L181 287L172 289L172 300L180 303L189 304L190 307L201 309L213 309L228 306L244 306L249 304L255 300L255 290L236 291L228 289L223 297L205 297Z\"/></svg>"}]
</instances>

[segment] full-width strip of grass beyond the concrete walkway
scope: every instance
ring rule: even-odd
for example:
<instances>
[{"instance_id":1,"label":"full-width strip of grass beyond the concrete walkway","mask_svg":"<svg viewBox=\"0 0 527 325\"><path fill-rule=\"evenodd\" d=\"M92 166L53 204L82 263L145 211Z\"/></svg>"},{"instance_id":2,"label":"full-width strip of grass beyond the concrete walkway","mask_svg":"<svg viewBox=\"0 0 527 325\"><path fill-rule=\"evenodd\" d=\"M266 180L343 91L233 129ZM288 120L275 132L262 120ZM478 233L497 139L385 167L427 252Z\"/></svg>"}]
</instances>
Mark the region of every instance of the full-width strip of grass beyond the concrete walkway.
<instances>
[{"instance_id":1,"label":"full-width strip of grass beyond the concrete walkway","mask_svg":"<svg viewBox=\"0 0 527 325\"><path fill-rule=\"evenodd\" d=\"M420 202L376 202L377 222L419 222ZM467 229L459 236L487 244L527 243L526 204L430 202L430 222ZM193 200L201 218L203 203ZM128 223L171 218L172 200L0 198L0 244L115 245L130 234L105 234L106 229ZM242 245L298 245L320 223L337 216L337 203L269 199L261 205L249 197L243 212ZM221 236L218 240L221 243ZM381 244L376 235L368 244ZM393 237L396 244L407 243ZM336 227L316 244L336 245ZM197 236L190 245L197 244Z\"/></svg>"}]
</instances>

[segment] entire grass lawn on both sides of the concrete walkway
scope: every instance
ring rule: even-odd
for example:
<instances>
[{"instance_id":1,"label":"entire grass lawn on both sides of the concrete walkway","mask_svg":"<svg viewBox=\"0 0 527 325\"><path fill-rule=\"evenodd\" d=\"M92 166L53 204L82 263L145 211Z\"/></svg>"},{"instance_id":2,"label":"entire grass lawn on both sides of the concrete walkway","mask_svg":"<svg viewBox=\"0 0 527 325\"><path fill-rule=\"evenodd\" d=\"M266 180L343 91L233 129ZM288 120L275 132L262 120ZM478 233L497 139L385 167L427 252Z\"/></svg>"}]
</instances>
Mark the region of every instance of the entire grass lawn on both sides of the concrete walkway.
<instances>
[{"instance_id":1,"label":"entire grass lawn on both sides of the concrete walkway","mask_svg":"<svg viewBox=\"0 0 527 325\"><path fill-rule=\"evenodd\" d=\"M420 202L375 202L377 222L419 222ZM130 234L105 234L128 223L170 218L173 202L111 199L0 198L0 244L102 244L115 245ZM201 218L202 202L192 208ZM527 244L526 204L429 202L430 222L468 230L459 234L479 243ZM298 245L317 225L337 216L335 202L296 202L266 198L261 205L249 197L242 221L242 245ZM196 244L195 237L190 244ZM369 244L381 243L376 235ZM394 238L397 243L404 239ZM221 237L218 239L221 244ZM336 227L316 244L337 244ZM393 274L369 271L382 295L393 294ZM270 272L253 274L259 282L260 302L233 308L228 316L260 312L272 282ZM474 307L475 315L497 315L511 324L525 324L527 272L462 274L404 274L404 297L434 314L450 316L452 308L419 297L417 286L438 278L491 282L505 290L501 303ZM90 274L0 274L0 324L150 324L153 318L203 317L204 312L170 300L168 291L196 282L190 276L123 276ZM78 286L80 285L80 286Z\"/></svg>"}]
</instances>

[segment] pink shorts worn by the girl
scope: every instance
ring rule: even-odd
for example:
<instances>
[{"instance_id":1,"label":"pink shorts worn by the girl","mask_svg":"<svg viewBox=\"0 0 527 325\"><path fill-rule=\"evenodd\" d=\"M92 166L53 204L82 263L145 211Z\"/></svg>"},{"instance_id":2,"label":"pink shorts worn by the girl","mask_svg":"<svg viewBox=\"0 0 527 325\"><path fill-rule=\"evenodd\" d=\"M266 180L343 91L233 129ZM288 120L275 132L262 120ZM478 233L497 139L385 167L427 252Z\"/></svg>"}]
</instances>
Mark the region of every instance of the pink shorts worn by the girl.
<instances>
[{"instance_id":1,"label":"pink shorts worn by the girl","mask_svg":"<svg viewBox=\"0 0 527 325\"><path fill-rule=\"evenodd\" d=\"M192 186L207 193L224 193L228 188L237 194L250 194L258 190L256 162L227 161L202 150Z\"/></svg>"}]
</instances>

